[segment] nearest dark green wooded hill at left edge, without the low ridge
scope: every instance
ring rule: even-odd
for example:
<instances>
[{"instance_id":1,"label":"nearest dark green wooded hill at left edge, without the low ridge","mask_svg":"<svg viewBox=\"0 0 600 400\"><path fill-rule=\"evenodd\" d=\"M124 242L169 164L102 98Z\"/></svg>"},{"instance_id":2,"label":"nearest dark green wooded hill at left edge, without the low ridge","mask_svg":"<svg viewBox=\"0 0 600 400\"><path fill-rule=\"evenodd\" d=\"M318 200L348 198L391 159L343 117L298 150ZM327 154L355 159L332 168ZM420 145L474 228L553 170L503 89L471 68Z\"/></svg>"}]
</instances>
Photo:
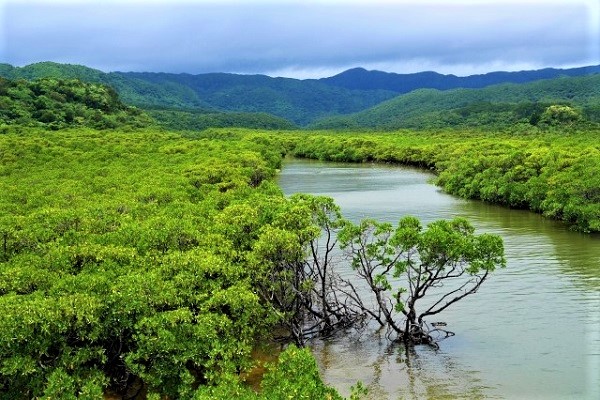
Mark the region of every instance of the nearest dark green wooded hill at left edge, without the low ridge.
<instances>
[{"instance_id":1,"label":"nearest dark green wooded hill at left edge, without the low ridge","mask_svg":"<svg viewBox=\"0 0 600 400\"><path fill-rule=\"evenodd\" d=\"M0 127L6 125L60 129L149 126L151 118L124 105L117 93L77 79L10 81L0 78Z\"/></svg>"}]
</instances>

